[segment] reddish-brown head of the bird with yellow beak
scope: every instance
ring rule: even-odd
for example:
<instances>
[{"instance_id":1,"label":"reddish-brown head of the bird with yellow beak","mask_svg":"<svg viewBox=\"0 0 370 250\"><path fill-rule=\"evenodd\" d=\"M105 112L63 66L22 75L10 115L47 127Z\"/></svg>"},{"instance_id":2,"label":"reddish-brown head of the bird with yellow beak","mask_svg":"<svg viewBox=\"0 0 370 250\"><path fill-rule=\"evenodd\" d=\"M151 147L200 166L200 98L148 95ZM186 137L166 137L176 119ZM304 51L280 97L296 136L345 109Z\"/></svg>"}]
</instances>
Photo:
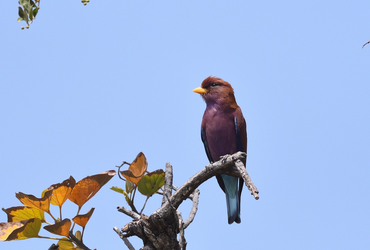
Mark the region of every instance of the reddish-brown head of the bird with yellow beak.
<instances>
[{"instance_id":1,"label":"reddish-brown head of the bird with yellow beak","mask_svg":"<svg viewBox=\"0 0 370 250\"><path fill-rule=\"evenodd\" d=\"M218 77L207 77L201 87L193 89L193 92L201 94L207 105L228 105L232 108L238 106L234 97L234 89L228 82Z\"/></svg>"}]
</instances>

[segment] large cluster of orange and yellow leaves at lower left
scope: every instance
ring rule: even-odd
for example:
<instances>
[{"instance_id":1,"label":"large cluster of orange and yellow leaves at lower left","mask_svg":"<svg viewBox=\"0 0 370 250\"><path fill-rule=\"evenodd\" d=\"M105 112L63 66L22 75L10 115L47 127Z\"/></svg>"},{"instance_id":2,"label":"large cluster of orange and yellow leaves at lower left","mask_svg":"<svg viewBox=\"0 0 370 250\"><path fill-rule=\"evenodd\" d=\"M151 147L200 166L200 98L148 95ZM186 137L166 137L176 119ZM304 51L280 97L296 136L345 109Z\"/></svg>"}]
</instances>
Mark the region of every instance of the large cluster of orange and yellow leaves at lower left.
<instances>
[{"instance_id":1,"label":"large cluster of orange and yellow leaves at lower left","mask_svg":"<svg viewBox=\"0 0 370 250\"><path fill-rule=\"evenodd\" d=\"M8 215L8 222L0 223L0 241L23 240L33 237L59 240L60 250L85 249L89 250L83 243L85 226L94 212L92 207L87 213L79 214L81 207L94 196L114 175L115 170L105 171L97 175L87 176L76 183L70 176L61 183L53 184L45 189L41 198L24 193L16 193L17 199L24 206L2 209ZM72 221L68 218L62 219L61 207L69 199L78 206L78 211ZM55 218L50 212L50 205L59 207L60 217ZM54 223L46 221L44 214L47 213ZM39 236L41 224L46 223L44 229L50 233L64 236L62 238ZM73 233L74 225L82 227L81 231Z\"/></svg>"}]
</instances>

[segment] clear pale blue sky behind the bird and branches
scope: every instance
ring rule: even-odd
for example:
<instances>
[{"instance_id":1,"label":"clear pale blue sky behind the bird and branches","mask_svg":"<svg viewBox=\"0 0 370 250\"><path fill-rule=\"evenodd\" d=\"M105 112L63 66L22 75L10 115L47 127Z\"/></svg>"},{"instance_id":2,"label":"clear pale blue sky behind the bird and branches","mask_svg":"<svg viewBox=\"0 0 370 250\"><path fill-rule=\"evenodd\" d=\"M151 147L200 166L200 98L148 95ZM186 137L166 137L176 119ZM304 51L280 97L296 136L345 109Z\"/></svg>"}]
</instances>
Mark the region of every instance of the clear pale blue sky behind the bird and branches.
<instances>
[{"instance_id":1,"label":"clear pale blue sky behind the bird and branches","mask_svg":"<svg viewBox=\"0 0 370 250\"><path fill-rule=\"evenodd\" d=\"M205 104L192 89L214 75L231 83L245 116L260 199L245 189L242 223L229 225L216 179L203 183L188 249L369 247L369 1L42 0L28 30L17 6L5 1L0 16L0 207L140 151L149 170L171 162L182 185L208 163ZM124 183L114 177L81 211L95 207L91 249L125 249L112 228L131 220L111 186ZM160 203L149 199L144 214ZM65 206L73 217L77 207ZM180 207L184 217L190 207Z\"/></svg>"}]
</instances>

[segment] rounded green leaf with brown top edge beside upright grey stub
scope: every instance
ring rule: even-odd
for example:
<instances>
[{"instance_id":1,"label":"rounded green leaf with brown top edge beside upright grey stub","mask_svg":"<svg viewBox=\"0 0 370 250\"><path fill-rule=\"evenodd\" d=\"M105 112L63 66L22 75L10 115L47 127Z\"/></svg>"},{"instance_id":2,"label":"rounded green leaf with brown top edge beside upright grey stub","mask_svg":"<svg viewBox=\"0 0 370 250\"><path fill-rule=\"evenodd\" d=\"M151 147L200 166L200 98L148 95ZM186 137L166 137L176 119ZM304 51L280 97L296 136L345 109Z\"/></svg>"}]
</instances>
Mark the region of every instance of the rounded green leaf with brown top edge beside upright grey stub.
<instances>
[{"instance_id":1,"label":"rounded green leaf with brown top edge beside upright grey stub","mask_svg":"<svg viewBox=\"0 0 370 250\"><path fill-rule=\"evenodd\" d=\"M158 192L159 188L164 185L164 171L155 170L144 175L138 183L138 190L145 196L152 196Z\"/></svg>"}]
</instances>

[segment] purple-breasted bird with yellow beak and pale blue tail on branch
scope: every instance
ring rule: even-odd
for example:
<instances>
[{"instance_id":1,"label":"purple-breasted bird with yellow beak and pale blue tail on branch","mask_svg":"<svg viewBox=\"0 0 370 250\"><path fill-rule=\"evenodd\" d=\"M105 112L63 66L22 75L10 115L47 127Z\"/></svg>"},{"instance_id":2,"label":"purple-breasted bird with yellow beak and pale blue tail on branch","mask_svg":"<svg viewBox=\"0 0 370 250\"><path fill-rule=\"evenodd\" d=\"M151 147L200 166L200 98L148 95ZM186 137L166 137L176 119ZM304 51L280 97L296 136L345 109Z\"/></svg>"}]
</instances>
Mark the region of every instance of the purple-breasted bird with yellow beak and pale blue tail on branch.
<instances>
[{"instance_id":1,"label":"purple-breasted bird with yellow beak and pale blue tail on branch","mask_svg":"<svg viewBox=\"0 0 370 250\"><path fill-rule=\"evenodd\" d=\"M201 138L210 163L221 156L247 152L246 122L236 104L234 89L229 82L209 76L193 92L201 94L206 103ZM246 159L243 161L244 166ZM226 195L228 223L240 223L240 196L243 179L229 175L216 175L217 182ZM239 183L238 183L239 181Z\"/></svg>"}]
</instances>

